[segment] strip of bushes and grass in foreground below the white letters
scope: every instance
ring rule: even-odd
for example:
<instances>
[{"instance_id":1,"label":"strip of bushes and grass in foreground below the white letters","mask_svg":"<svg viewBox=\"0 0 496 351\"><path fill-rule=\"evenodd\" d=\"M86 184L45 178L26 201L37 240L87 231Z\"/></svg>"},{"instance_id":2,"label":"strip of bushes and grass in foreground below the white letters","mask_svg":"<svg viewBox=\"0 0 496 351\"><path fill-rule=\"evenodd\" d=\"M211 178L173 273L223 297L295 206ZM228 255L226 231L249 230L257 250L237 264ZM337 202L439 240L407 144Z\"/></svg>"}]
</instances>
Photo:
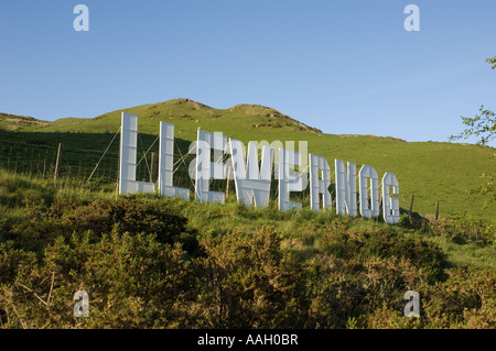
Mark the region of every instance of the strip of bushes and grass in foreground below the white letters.
<instances>
[{"instance_id":1,"label":"strip of bushes and grass in foreground below the white letters","mask_svg":"<svg viewBox=\"0 0 496 351\"><path fill-rule=\"evenodd\" d=\"M0 173L2 328L496 327L494 222L114 190ZM420 318L403 315L410 289Z\"/></svg>"}]
</instances>

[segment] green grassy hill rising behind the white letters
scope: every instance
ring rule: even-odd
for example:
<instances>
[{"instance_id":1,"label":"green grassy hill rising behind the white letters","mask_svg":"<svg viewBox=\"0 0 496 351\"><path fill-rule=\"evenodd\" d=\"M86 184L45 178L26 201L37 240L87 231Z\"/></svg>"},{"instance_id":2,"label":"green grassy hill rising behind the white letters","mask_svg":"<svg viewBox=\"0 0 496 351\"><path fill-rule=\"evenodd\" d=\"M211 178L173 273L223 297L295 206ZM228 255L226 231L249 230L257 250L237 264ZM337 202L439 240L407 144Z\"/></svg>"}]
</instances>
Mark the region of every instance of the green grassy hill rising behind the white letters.
<instances>
[{"instance_id":1,"label":"green grassy hill rising behind the white letters","mask_svg":"<svg viewBox=\"0 0 496 351\"><path fill-rule=\"evenodd\" d=\"M414 210L424 216L432 216L435 202L439 201L440 215L444 217L467 213L486 219L496 218L496 204L483 208L486 200L483 196L466 194L468 189L482 184L482 173L494 171L496 165L490 157L495 150L492 147L442 142L411 143L373 135L325 134L276 109L262 106L237 105L228 109L215 109L188 99L174 99L117 110L93 119L66 118L54 122L2 113L0 136L4 142L51 147L51 160L57 143L63 142L66 151L64 161L71 164L73 173L76 168L82 173L83 167L85 175L89 175L98 157L112 140L114 133L118 131L121 111L139 116L143 150L155 140L159 121L175 125L175 138L182 153L186 152L188 142L196 139L198 128L212 132L222 131L227 136L245 143L250 140L279 140L295 141L298 145L298 141L308 141L309 152L325 156L331 165L334 158L341 158L354 162L358 167L363 164L373 165L379 177L385 172L395 173L400 184L399 199L402 208L409 207L411 195L414 195ZM83 166L78 155L79 149L94 155L91 161ZM153 150L157 149L155 144ZM105 171L114 179L117 152L116 142L110 149L114 158L106 165ZM21 162L22 157L18 158ZM41 158L43 155L39 154L39 169ZM182 182L191 185L187 179Z\"/></svg>"}]
</instances>

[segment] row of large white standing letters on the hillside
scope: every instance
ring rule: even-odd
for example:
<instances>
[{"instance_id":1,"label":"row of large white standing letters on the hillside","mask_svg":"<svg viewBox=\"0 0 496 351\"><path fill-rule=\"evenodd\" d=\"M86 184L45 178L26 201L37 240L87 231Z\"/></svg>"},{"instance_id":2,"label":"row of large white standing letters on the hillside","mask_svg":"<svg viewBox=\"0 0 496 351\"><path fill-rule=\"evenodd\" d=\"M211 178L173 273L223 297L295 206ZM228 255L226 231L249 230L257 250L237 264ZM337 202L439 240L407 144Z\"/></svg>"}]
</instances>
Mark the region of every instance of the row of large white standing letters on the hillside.
<instances>
[{"instance_id":1,"label":"row of large white standing letters on the hillside","mask_svg":"<svg viewBox=\"0 0 496 351\"><path fill-rule=\"evenodd\" d=\"M159 177L157 184L136 180L138 155L138 116L122 112L119 160L119 194L155 193L162 196L190 200L190 189L173 186L174 175L174 125L160 122ZM261 149L259 166L258 150ZM272 173L278 180L279 210L301 209L301 202L290 201L290 193L303 191L310 185L312 210L332 209L331 168L323 156L262 145L244 144L235 139L227 140L222 133L197 131L197 140L190 146L190 154L196 157L190 164L190 177L195 184L195 200L202 202L225 202L225 194L209 190L211 179L234 179L238 201L246 206L267 207L270 199ZM245 156L246 154L246 156ZM230 158L223 163L224 155ZM212 162L212 156L216 162ZM308 156L308 158L306 158ZM294 166L306 172L295 172ZM363 165L358 172L358 199L356 188L356 164L347 162L347 169L341 160L334 161L336 212L355 217L375 218L379 213L379 178L370 165ZM392 173L385 173L381 179L382 218L388 223L399 221L399 200L391 195L399 194L399 185ZM357 204L358 202L358 204ZM359 205L359 206L358 206Z\"/></svg>"}]
</instances>

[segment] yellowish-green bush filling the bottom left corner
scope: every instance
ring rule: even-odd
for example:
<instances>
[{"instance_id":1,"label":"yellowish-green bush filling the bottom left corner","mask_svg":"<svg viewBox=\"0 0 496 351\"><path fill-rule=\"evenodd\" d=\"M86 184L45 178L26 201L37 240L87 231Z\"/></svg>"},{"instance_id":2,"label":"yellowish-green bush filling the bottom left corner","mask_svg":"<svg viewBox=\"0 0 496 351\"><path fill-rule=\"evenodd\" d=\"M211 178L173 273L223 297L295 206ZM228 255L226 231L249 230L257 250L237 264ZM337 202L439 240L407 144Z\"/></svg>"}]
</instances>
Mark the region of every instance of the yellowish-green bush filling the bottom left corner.
<instances>
[{"instance_id":1,"label":"yellowish-green bush filling the bottom left corner","mask_svg":"<svg viewBox=\"0 0 496 351\"><path fill-rule=\"evenodd\" d=\"M117 231L96 243L89 233L65 241L60 237L48 245L41 265L32 257L22 265L19 261L18 268L31 263L29 270L1 285L4 327L166 328L184 315L180 307L188 294L191 272L180 245L159 243L153 234ZM25 256L4 245L2 254ZM80 289L89 295L90 318L73 316L72 298Z\"/></svg>"}]
</instances>

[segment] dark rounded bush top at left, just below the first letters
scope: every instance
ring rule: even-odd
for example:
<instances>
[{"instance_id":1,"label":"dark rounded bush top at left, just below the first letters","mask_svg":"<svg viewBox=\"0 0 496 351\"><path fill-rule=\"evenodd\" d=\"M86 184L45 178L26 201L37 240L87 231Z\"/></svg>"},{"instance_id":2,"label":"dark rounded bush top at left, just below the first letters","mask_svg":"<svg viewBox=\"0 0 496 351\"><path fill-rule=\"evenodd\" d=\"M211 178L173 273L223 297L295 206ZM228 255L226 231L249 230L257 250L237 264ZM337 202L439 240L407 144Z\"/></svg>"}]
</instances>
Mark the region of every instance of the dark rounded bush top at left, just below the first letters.
<instances>
[{"instance_id":1,"label":"dark rounded bush top at left, just below the first letters","mask_svg":"<svg viewBox=\"0 0 496 351\"><path fill-rule=\"evenodd\" d=\"M17 238L20 248L41 253L46 244L62 235L90 231L96 240L117 224L120 233L153 233L162 243L181 242L185 250L197 250L196 234L186 230L187 219L170 210L161 201L121 197L77 204L71 198L57 199L50 208L35 208L31 220L12 226L9 238Z\"/></svg>"}]
</instances>

